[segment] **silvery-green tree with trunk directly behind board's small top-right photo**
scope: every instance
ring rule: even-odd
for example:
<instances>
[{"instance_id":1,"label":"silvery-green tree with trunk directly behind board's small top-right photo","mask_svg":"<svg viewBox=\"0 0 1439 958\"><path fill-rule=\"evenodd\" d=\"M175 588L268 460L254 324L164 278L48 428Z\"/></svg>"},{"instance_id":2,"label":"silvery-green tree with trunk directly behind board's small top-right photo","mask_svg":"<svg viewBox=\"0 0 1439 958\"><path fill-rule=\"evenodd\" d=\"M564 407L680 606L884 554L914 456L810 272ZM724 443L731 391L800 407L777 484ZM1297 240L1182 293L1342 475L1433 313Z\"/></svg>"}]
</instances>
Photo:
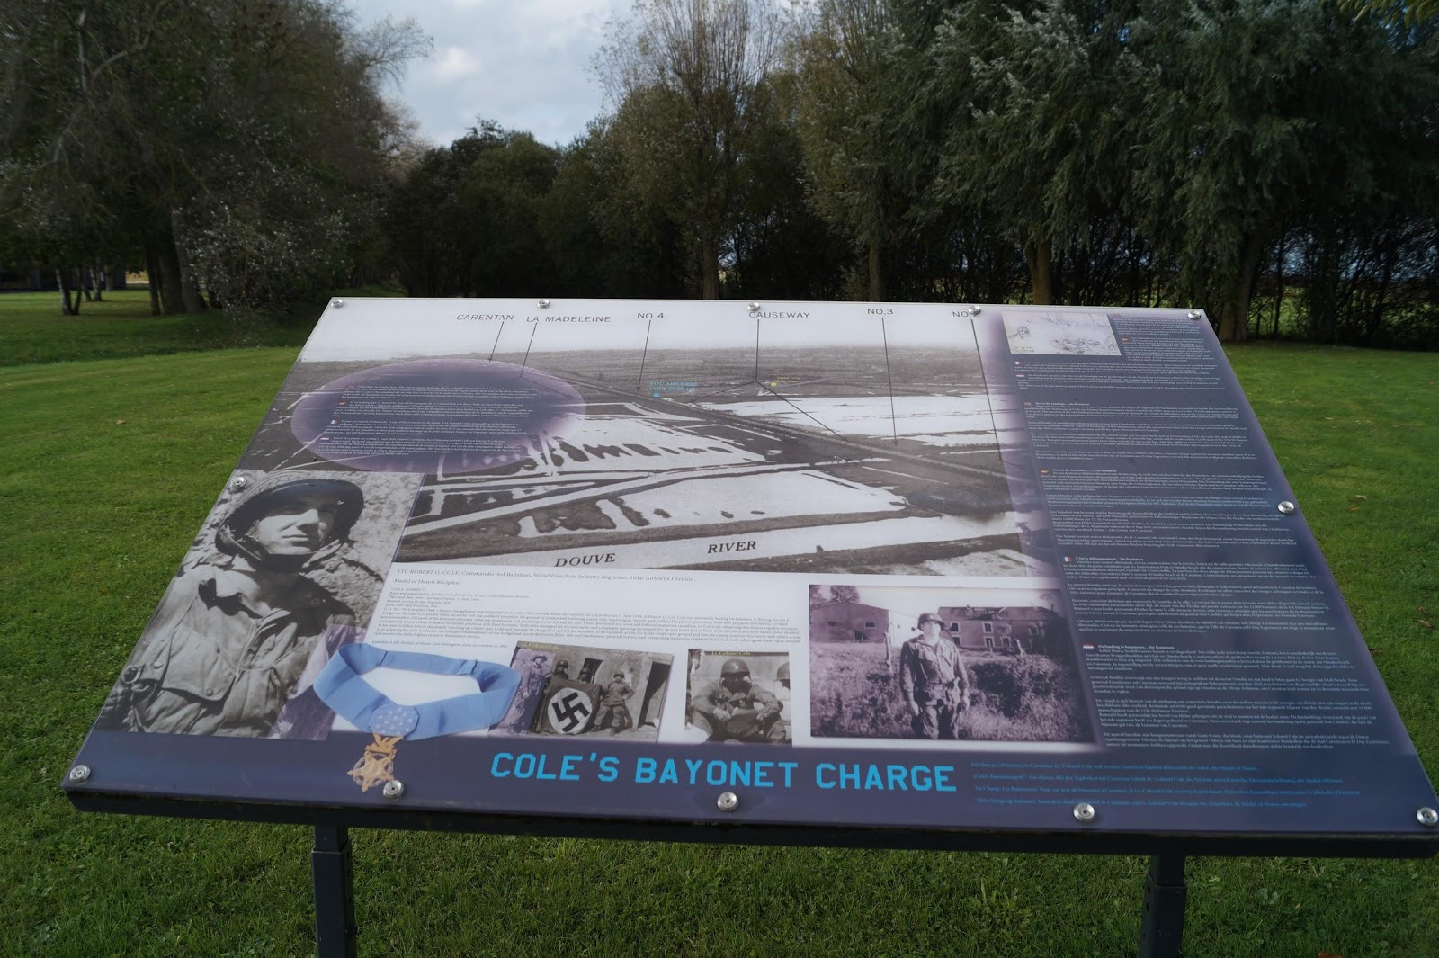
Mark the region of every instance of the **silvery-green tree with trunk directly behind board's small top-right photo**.
<instances>
[{"instance_id":1,"label":"silvery-green tree with trunk directly behind board's small top-right photo","mask_svg":"<svg viewBox=\"0 0 1439 958\"><path fill-rule=\"evenodd\" d=\"M1095 217L1128 196L1144 76L1127 17L1122 3L971 3L924 52L945 118L935 200L1002 217L1039 305L1058 301L1056 255L1086 249Z\"/></svg>"}]
</instances>

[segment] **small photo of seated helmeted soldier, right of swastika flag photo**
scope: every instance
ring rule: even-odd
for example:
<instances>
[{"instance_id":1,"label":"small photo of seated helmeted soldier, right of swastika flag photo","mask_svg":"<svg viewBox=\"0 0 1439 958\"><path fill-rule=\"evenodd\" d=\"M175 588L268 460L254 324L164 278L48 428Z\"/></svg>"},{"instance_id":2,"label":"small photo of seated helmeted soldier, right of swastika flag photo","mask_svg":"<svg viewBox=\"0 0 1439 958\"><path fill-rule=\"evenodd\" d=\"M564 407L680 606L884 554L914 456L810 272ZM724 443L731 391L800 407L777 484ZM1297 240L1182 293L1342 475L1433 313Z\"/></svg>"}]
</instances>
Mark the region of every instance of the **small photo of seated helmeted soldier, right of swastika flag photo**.
<instances>
[{"instance_id":1,"label":"small photo of seated helmeted soldier, right of swastika flag photo","mask_svg":"<svg viewBox=\"0 0 1439 958\"><path fill-rule=\"evenodd\" d=\"M790 656L786 652L689 652L686 725L709 742L787 745Z\"/></svg>"}]
</instances>

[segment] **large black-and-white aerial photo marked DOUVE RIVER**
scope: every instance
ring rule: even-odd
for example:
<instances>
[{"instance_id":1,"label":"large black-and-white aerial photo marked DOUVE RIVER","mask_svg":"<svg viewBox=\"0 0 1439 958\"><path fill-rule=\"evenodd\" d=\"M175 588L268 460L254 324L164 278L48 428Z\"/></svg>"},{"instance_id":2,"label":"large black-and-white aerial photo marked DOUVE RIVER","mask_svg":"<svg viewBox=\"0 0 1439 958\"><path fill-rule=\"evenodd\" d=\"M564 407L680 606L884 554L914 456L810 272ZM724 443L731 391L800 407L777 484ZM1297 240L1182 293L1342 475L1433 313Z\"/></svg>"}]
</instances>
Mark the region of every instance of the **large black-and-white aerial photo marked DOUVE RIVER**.
<instances>
[{"instance_id":1,"label":"large black-and-white aerial photo marked DOUVE RIVER","mask_svg":"<svg viewBox=\"0 0 1439 958\"><path fill-rule=\"evenodd\" d=\"M485 361L580 401L521 459L445 456L401 562L1036 572L967 321L837 321L823 345L764 311L715 328L519 324Z\"/></svg>"}]
</instances>

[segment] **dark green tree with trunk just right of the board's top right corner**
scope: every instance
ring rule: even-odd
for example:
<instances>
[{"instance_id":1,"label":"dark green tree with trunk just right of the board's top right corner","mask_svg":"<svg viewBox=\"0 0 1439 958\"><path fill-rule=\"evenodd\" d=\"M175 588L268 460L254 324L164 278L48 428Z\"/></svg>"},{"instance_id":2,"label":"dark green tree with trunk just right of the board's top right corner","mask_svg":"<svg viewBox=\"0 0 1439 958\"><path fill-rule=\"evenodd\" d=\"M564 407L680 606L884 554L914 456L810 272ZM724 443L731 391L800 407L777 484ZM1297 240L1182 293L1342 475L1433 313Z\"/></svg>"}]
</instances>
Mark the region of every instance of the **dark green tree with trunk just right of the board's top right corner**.
<instances>
[{"instance_id":1,"label":"dark green tree with trunk just right of the board's top right corner","mask_svg":"<svg viewBox=\"0 0 1439 958\"><path fill-rule=\"evenodd\" d=\"M1325 124L1348 135L1351 118L1309 98L1335 75L1334 29L1333 9L1304 0L1164 7L1134 26L1157 78L1137 151L1143 227L1225 341L1248 338L1265 253L1322 181Z\"/></svg>"}]
</instances>

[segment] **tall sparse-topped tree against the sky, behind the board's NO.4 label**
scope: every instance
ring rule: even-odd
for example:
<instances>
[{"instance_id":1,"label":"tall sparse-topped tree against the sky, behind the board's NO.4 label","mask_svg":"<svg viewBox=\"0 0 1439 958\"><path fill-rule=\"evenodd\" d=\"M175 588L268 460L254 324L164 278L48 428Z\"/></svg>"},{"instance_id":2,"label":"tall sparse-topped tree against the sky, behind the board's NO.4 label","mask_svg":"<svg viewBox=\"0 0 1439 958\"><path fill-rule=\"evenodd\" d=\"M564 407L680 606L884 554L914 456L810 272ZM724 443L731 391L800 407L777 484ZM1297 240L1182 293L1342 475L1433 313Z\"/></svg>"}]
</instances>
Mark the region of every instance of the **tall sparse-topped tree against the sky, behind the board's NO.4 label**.
<instances>
[{"instance_id":1,"label":"tall sparse-topped tree against the sky, behind the board's NO.4 label","mask_svg":"<svg viewBox=\"0 0 1439 958\"><path fill-rule=\"evenodd\" d=\"M610 135L632 191L691 239L699 292L717 299L778 19L768 0L639 0L635 12L596 58L616 111Z\"/></svg>"}]
</instances>

